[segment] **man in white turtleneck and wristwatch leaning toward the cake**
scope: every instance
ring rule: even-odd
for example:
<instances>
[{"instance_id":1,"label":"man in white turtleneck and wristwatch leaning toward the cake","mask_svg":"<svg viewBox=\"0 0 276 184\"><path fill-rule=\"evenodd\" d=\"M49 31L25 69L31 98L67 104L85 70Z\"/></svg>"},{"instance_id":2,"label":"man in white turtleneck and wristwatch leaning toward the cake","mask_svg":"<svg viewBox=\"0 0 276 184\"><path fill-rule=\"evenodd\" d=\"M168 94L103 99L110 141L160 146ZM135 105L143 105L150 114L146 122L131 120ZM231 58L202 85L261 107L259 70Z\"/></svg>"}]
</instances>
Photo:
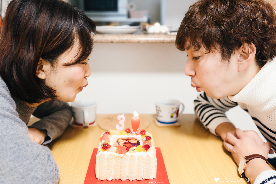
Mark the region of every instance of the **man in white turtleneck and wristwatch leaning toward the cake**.
<instances>
[{"instance_id":1,"label":"man in white turtleneck and wristwatch leaning toward the cake","mask_svg":"<svg viewBox=\"0 0 276 184\"><path fill-rule=\"evenodd\" d=\"M276 15L266 1L200 0L190 6L176 36L187 52L185 74L198 95L201 123L221 136L239 172L251 183L275 183L267 162L276 149ZM267 139L242 131L225 112L240 105ZM271 147L272 146L272 147ZM256 155L258 156L256 157ZM244 157L250 161L244 161ZM247 160L247 159L246 159ZM246 162L246 167L242 164Z\"/></svg>"}]
</instances>

